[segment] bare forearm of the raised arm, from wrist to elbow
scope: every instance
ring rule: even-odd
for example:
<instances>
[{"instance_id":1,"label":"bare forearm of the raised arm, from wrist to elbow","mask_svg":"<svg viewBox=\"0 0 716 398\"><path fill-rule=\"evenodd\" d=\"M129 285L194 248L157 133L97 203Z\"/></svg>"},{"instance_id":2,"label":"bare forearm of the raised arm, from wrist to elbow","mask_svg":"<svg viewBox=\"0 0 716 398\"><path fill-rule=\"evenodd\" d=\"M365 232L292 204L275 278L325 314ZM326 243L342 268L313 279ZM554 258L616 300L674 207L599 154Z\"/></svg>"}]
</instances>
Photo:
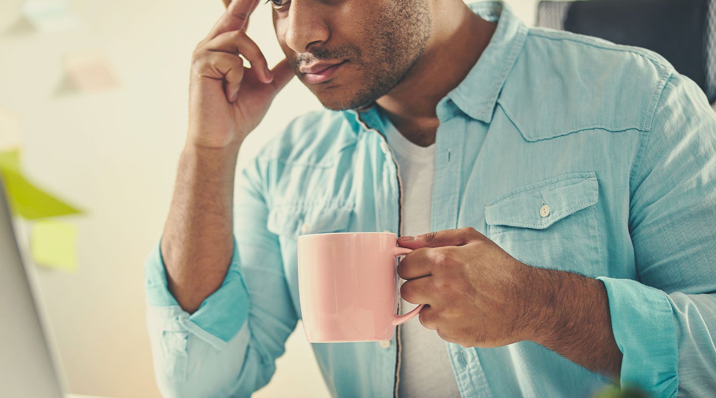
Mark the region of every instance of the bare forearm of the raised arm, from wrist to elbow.
<instances>
[{"instance_id":1,"label":"bare forearm of the raised arm, from wrist to elbow","mask_svg":"<svg viewBox=\"0 0 716 398\"><path fill-rule=\"evenodd\" d=\"M192 314L221 286L233 253L233 186L238 146L224 150L186 145L161 252L168 288Z\"/></svg>"}]
</instances>

